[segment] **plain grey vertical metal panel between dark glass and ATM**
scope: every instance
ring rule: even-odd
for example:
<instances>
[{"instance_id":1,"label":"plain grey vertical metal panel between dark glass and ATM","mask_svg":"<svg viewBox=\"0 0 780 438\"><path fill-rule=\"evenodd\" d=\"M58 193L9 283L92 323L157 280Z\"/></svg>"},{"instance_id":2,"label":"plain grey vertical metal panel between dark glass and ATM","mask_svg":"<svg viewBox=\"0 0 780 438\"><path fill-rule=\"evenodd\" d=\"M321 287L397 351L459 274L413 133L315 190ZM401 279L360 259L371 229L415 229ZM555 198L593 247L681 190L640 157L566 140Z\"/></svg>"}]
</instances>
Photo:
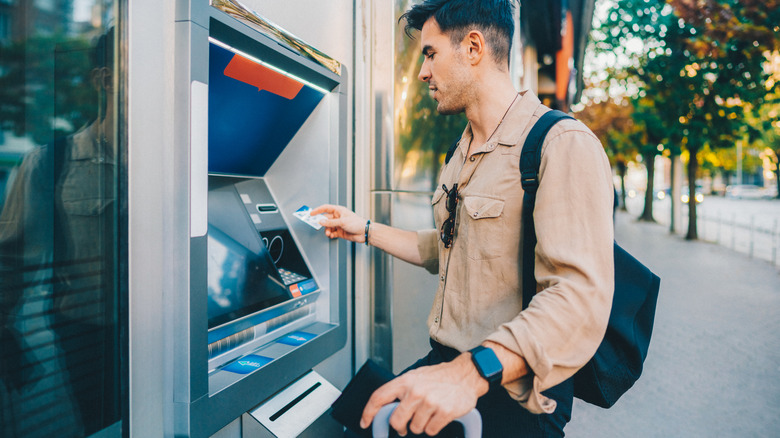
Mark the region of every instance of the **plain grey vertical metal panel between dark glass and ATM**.
<instances>
[{"instance_id":1,"label":"plain grey vertical metal panel between dark glass and ATM","mask_svg":"<svg viewBox=\"0 0 780 438\"><path fill-rule=\"evenodd\" d=\"M129 332L131 436L159 436L165 430L166 384L164 290L173 275L173 236L187 234L186 214L171 213L174 151L170 144L173 4L155 0L128 2L128 196L129 196ZM186 187L186 180L183 182ZM183 251L187 253L186 247ZM184 271L186 272L186 271ZM169 382L168 382L169 383Z\"/></svg>"}]
</instances>

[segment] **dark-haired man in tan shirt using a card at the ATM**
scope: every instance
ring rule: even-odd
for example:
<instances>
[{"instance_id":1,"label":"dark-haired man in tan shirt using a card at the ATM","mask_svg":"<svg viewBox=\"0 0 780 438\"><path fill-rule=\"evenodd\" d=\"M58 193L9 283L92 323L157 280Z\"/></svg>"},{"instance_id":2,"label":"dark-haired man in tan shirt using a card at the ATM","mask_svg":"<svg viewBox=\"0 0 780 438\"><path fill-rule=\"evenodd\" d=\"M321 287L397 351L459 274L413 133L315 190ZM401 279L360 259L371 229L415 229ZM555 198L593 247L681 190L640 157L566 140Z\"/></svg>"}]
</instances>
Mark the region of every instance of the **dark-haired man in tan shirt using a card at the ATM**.
<instances>
[{"instance_id":1,"label":"dark-haired man in tan shirt using a card at the ATM","mask_svg":"<svg viewBox=\"0 0 780 438\"><path fill-rule=\"evenodd\" d=\"M570 377L595 353L613 292L612 176L598 139L558 123L543 145L534 213L537 294L522 309L519 157L549 111L509 75L508 0L426 0L402 18L421 30L441 114L465 112L463 136L433 195L436 230L411 232L321 206L326 235L366 242L439 275L428 318L432 351L379 388L361 420L399 400L399 434L435 435L475 406L483 436L563 436ZM476 348L475 348L476 347ZM498 363L495 360L498 360Z\"/></svg>"}]
</instances>

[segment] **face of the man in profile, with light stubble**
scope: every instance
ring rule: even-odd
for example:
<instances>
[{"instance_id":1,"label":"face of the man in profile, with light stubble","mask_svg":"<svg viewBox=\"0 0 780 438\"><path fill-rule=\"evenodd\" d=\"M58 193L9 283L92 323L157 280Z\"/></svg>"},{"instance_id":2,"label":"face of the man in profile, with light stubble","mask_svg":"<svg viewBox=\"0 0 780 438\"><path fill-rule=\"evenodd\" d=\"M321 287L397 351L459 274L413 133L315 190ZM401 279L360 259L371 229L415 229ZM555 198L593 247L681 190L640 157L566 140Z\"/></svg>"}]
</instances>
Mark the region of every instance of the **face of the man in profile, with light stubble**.
<instances>
[{"instance_id":1,"label":"face of the man in profile, with light stubble","mask_svg":"<svg viewBox=\"0 0 780 438\"><path fill-rule=\"evenodd\" d=\"M425 22L420 35L425 57L417 76L428 83L439 114L457 114L466 109L473 94L471 75L460 44L453 45L433 18Z\"/></svg>"}]
</instances>

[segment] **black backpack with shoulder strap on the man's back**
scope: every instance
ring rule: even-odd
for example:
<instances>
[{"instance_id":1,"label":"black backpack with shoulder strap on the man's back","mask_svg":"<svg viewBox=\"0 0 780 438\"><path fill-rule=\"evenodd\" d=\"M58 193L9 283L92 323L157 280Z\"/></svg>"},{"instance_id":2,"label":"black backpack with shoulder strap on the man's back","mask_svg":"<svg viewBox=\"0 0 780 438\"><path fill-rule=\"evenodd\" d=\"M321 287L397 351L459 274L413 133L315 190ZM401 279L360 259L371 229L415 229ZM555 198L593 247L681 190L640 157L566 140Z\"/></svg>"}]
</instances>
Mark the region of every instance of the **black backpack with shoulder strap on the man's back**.
<instances>
[{"instance_id":1,"label":"black backpack with shoulder strap on the man's back","mask_svg":"<svg viewBox=\"0 0 780 438\"><path fill-rule=\"evenodd\" d=\"M534 278L534 203L539 187L542 144L550 128L563 119L561 111L542 115L523 144L520 173L523 196L523 308L536 293ZM593 358L574 375L574 396L609 408L642 374L653 331L660 278L615 243L615 293L604 339Z\"/></svg>"}]
</instances>

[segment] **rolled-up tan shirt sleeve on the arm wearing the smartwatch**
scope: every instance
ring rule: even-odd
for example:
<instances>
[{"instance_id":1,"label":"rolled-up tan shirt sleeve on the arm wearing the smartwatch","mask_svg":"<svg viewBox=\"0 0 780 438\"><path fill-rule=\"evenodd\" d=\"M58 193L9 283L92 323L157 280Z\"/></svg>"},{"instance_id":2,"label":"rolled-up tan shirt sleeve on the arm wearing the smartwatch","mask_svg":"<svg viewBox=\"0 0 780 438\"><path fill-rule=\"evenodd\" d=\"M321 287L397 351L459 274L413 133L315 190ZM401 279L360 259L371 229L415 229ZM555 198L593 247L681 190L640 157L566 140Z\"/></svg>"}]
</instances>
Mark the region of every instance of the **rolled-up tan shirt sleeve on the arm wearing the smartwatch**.
<instances>
[{"instance_id":1,"label":"rolled-up tan shirt sleeve on the arm wearing the smartwatch","mask_svg":"<svg viewBox=\"0 0 780 438\"><path fill-rule=\"evenodd\" d=\"M487 338L527 361L531 374L505 388L533 413L553 412L555 401L541 392L573 376L596 352L614 289L609 162L584 126L564 123L550 131L542 154L534 209L537 294Z\"/></svg>"}]
</instances>

